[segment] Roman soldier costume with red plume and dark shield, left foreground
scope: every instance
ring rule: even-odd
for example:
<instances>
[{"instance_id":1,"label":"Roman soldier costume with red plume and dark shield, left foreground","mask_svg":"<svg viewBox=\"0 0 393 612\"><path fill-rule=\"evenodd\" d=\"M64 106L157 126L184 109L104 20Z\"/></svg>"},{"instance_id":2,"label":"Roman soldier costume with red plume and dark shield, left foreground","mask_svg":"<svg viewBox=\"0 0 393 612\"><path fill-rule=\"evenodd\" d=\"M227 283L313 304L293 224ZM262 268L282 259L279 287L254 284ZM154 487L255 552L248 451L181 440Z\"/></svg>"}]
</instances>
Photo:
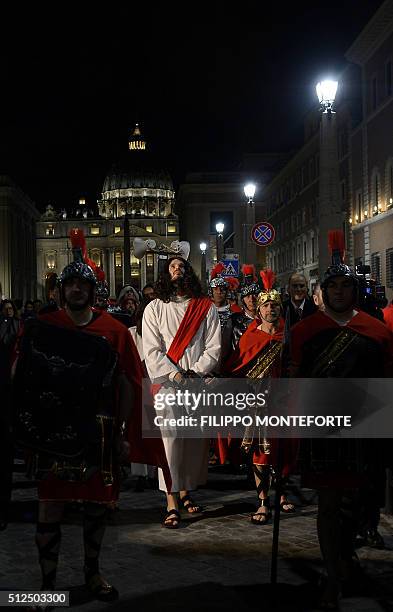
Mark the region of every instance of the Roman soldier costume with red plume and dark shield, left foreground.
<instances>
[{"instance_id":1,"label":"Roman soldier costume with red plume and dark shield, left foreground","mask_svg":"<svg viewBox=\"0 0 393 612\"><path fill-rule=\"evenodd\" d=\"M99 574L98 555L108 504L119 494L119 455L160 465L168 486L170 475L162 440L142 439L138 352L123 325L104 310L91 308L97 283L94 262L89 265L83 259L83 233L72 230L70 238L75 261L59 279L66 308L28 321L19 341L14 432L18 444L34 457L40 516L58 516L61 502L84 502L86 584L98 599L111 601L118 593ZM77 295L80 287L89 288L82 303L86 323L74 322L65 287L75 287L71 293L79 291ZM55 585L60 518L37 525L44 589Z\"/></svg>"}]
</instances>

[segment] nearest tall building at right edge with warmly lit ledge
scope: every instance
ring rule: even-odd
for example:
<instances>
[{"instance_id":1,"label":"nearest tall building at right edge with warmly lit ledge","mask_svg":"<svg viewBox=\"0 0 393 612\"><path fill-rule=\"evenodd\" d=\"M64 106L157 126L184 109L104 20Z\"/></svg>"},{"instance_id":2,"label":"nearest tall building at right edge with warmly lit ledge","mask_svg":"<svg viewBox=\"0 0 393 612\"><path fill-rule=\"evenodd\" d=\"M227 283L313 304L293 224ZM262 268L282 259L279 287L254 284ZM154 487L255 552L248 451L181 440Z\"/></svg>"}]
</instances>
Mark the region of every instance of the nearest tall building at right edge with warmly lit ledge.
<instances>
[{"instance_id":1,"label":"nearest tall building at right edge with warmly lit ledge","mask_svg":"<svg viewBox=\"0 0 393 612\"><path fill-rule=\"evenodd\" d=\"M393 2L386 1L346 53L359 67L362 121L349 139L356 264L393 299Z\"/></svg>"}]
</instances>

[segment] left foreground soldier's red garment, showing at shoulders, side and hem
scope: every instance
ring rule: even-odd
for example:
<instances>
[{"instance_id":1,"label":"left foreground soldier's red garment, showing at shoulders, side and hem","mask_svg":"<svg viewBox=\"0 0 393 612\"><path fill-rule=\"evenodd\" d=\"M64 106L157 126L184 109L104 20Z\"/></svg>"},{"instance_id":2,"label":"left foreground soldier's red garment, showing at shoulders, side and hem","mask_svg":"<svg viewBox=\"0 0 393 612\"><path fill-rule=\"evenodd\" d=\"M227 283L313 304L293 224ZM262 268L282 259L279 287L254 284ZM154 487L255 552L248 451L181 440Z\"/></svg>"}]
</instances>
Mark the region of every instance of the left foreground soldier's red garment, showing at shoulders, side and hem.
<instances>
[{"instance_id":1,"label":"left foreground soldier's red garment, showing at shoulders, side and hem","mask_svg":"<svg viewBox=\"0 0 393 612\"><path fill-rule=\"evenodd\" d=\"M142 379L143 369L136 346L128 329L108 313L95 310L98 315L89 325L83 328L88 333L104 336L118 353L120 370L132 384L134 401L129 420L128 441L130 443L130 461L156 465L164 470L167 484L170 474L161 439L142 438ZM43 321L60 327L81 329L75 326L65 310L48 313L40 317ZM50 475L38 486L41 500L84 500L101 503L111 502L119 496L119 482L105 486L99 472L83 483L67 482Z\"/></svg>"}]
</instances>

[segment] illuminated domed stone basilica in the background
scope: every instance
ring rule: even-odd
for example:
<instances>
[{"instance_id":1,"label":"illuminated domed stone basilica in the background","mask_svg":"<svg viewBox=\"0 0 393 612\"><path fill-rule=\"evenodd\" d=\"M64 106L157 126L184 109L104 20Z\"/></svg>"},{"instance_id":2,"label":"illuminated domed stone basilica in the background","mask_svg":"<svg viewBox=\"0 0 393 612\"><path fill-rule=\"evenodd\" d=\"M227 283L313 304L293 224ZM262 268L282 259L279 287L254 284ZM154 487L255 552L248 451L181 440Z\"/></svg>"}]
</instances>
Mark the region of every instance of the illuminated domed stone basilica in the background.
<instances>
[{"instance_id":1,"label":"illuminated domed stone basilica in the background","mask_svg":"<svg viewBox=\"0 0 393 612\"><path fill-rule=\"evenodd\" d=\"M100 265L111 296L125 283L142 288L157 278L158 257L135 257L133 239L170 245L179 238L174 213L175 192L168 172L157 162L136 125L129 150L113 165L104 180L101 198L90 207L85 199L70 211L48 206L37 223L37 276L42 295L47 279L59 274L72 259L68 240L74 227L84 230L89 257ZM128 232L126 223L128 222ZM128 264L129 258L129 264Z\"/></svg>"}]
</instances>

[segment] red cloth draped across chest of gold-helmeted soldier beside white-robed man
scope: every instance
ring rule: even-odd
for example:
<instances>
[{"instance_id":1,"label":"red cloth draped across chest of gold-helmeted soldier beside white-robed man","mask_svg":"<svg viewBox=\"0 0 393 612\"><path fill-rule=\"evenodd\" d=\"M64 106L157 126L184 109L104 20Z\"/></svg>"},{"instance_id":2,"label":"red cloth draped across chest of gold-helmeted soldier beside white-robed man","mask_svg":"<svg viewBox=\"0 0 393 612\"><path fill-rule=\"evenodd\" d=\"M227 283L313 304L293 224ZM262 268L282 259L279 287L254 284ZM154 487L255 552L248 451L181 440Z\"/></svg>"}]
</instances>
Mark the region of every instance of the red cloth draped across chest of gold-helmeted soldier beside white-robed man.
<instances>
[{"instance_id":1,"label":"red cloth draped across chest of gold-helmeted soldier beside white-robed man","mask_svg":"<svg viewBox=\"0 0 393 612\"><path fill-rule=\"evenodd\" d=\"M259 319L254 319L240 337L235 352L232 353L224 364L224 372L226 374L235 374L235 376L239 376L242 369L245 368L247 364L261 352L263 347L271 342L271 340L282 342L284 335L283 319L280 319L280 327L273 335L257 329L260 323Z\"/></svg>"}]
</instances>

